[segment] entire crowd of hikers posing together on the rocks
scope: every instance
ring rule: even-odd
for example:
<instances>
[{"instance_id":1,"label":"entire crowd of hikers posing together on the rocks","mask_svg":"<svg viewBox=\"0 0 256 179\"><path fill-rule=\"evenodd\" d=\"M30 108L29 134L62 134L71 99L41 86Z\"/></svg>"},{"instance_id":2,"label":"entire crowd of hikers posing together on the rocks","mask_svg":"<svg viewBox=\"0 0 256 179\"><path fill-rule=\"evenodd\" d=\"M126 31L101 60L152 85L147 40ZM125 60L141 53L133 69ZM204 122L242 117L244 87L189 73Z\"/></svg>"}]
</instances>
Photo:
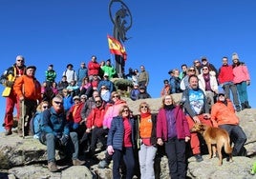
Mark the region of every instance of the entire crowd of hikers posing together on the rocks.
<instances>
[{"instance_id":1,"label":"entire crowd of hikers posing together on the rocks","mask_svg":"<svg viewBox=\"0 0 256 179\"><path fill-rule=\"evenodd\" d=\"M223 59L224 62L225 59L226 57ZM18 55L15 64L6 70L0 79L1 84L6 87L3 92L3 96L7 99L5 134L11 135L12 133L12 113L16 105L20 136L31 134L32 129L29 123L32 116L37 116L40 120L40 130L35 133L34 137L47 145L48 168L51 171L58 170L54 157L55 149L64 149L67 160L71 160L75 166L80 166L85 162L78 159L79 154L84 154L87 150L90 153L87 153L87 156L95 155L96 144L100 142L102 149L106 149L106 153L98 167L105 168L113 161L113 178L120 178L119 170L123 165L125 169L121 170L124 170L123 175L126 178L133 178L134 174L140 175L141 178L159 178L160 167L154 168L154 162L161 149L164 149L168 158L170 177L185 178L186 143L190 143L196 161L203 161L198 133L190 132L195 123L226 129L234 144L232 154L234 156L245 155L245 132L239 126L233 103L228 99L229 89L227 88L229 85L234 85L240 90L239 85L241 85L241 89L245 90L249 77L247 76L246 80L240 84L238 81L235 82L234 78L227 79L223 74L224 70L214 71L214 68L210 69L209 64L205 64L205 59L202 61L203 77L196 75L196 70L199 69L196 66L188 70L182 66L184 70L181 74L179 70L170 71L172 75L170 84L173 85L169 90L162 91L161 107L158 113L152 113L150 106L140 101L139 114L134 115L126 101L121 99L120 94L111 84L110 78L114 77L111 65L102 68L107 70L100 76L98 69L100 65L96 62L96 56L92 56L85 76L81 74L82 70L78 70L79 75L75 74L73 65L69 64L58 84L54 81L53 65L50 65L46 71L45 88L42 88L35 78L36 68L26 67L24 57ZM238 57L233 57L233 63L235 65L231 67L232 71L242 66L241 69L247 72L245 64L240 63ZM239 65L236 65L237 63ZM224 63L223 67L230 66ZM218 74L219 78L221 76L224 78L222 82L220 79L219 82L216 80L216 83L220 83L224 90L212 88L211 80L208 78L209 74L206 75L203 72L206 68ZM85 63L81 63L81 69L87 69ZM149 84L149 74L144 66L140 66L140 70L140 72L137 70L139 73L137 78L131 77L134 89L139 89L139 93L134 98L131 96L133 100L150 98L148 93L148 95L145 94ZM178 86L179 79L181 83ZM241 77L241 79L244 78ZM205 89L202 88L202 80L205 82L203 85ZM98 83L94 83L95 81ZM76 82L80 84L79 90L73 88ZM167 84L168 80L164 81L164 84L165 82ZM53 87L54 83L57 92L48 95L47 88L49 85ZM69 86L72 87L69 88ZM214 103L209 103L207 91L215 94ZM176 104L171 94L181 92L181 103ZM107 93L108 95L105 95ZM140 93L143 94L139 95ZM243 95L243 98L242 109L248 108L246 95ZM237 108L236 105L235 108ZM139 164L139 172L135 173L137 164Z\"/></svg>"}]
</instances>

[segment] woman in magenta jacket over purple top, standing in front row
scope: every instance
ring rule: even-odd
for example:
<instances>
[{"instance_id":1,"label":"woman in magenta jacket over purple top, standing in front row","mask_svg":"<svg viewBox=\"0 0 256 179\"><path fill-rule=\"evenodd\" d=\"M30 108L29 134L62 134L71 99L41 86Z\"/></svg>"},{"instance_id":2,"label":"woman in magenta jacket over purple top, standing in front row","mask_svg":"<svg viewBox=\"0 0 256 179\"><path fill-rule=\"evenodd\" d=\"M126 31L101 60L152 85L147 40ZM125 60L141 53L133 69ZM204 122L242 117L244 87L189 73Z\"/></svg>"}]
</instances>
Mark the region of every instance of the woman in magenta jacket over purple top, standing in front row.
<instances>
[{"instance_id":1,"label":"woman in magenta jacket over purple top, standing in front row","mask_svg":"<svg viewBox=\"0 0 256 179\"><path fill-rule=\"evenodd\" d=\"M186 177L185 142L190 139L188 123L180 106L175 106L171 95L162 98L157 120L157 143L168 157L171 178Z\"/></svg>"}]
</instances>

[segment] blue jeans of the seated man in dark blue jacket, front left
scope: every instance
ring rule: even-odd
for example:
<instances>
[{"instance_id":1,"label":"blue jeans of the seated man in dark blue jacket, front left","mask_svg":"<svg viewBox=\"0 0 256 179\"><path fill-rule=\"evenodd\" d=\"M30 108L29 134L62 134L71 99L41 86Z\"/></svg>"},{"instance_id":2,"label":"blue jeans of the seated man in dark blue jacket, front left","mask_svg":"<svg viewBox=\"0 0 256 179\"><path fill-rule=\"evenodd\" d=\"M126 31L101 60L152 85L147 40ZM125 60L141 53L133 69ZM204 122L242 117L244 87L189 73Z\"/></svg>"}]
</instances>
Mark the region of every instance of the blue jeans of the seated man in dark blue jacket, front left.
<instances>
[{"instance_id":1,"label":"blue jeans of the seated man in dark blue jacket, front left","mask_svg":"<svg viewBox=\"0 0 256 179\"><path fill-rule=\"evenodd\" d=\"M68 154L69 157L72 157L73 160L78 158L78 140L76 132L70 132L70 138L67 146L60 147L58 143L58 139L54 136L53 133L47 133L45 136L45 140L41 141L43 144L47 146L47 158L48 162L55 161L55 149L64 149L64 151Z\"/></svg>"}]
</instances>

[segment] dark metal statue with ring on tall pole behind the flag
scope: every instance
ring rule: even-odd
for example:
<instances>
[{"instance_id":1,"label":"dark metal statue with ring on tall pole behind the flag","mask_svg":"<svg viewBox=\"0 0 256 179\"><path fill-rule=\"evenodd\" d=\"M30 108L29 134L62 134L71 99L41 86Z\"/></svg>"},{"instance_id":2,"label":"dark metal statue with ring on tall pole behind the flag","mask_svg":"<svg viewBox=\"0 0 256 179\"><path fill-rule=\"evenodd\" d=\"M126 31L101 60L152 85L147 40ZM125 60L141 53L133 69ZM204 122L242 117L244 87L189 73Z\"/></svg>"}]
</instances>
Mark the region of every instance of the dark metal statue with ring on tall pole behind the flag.
<instances>
[{"instance_id":1,"label":"dark metal statue with ring on tall pole behind the flag","mask_svg":"<svg viewBox=\"0 0 256 179\"><path fill-rule=\"evenodd\" d=\"M121 0L111 0L109 4L109 15L112 23L114 24L114 38L116 38L120 43L124 43L128 40L126 32L132 27L132 14L130 10ZM117 75L118 77L122 77L125 62L120 55L115 55L115 59Z\"/></svg>"}]
</instances>

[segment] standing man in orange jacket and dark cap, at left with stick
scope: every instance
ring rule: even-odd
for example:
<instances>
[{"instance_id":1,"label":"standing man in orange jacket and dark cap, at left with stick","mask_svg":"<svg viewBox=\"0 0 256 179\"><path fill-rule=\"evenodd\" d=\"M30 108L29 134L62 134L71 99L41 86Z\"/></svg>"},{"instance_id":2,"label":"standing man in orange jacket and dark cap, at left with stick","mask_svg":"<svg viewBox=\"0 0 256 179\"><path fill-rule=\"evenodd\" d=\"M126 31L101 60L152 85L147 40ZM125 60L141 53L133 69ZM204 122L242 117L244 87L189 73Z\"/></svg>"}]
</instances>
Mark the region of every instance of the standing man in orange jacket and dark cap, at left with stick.
<instances>
[{"instance_id":1,"label":"standing man in orange jacket and dark cap, at left with stick","mask_svg":"<svg viewBox=\"0 0 256 179\"><path fill-rule=\"evenodd\" d=\"M20 137L23 134L29 134L30 120L36 111L37 104L41 102L41 85L34 77L35 70L34 66L28 67L26 74L17 78L13 86L14 92L20 101L20 111L24 112L23 115L19 115L18 134ZM22 130L23 123L24 131Z\"/></svg>"}]
</instances>

